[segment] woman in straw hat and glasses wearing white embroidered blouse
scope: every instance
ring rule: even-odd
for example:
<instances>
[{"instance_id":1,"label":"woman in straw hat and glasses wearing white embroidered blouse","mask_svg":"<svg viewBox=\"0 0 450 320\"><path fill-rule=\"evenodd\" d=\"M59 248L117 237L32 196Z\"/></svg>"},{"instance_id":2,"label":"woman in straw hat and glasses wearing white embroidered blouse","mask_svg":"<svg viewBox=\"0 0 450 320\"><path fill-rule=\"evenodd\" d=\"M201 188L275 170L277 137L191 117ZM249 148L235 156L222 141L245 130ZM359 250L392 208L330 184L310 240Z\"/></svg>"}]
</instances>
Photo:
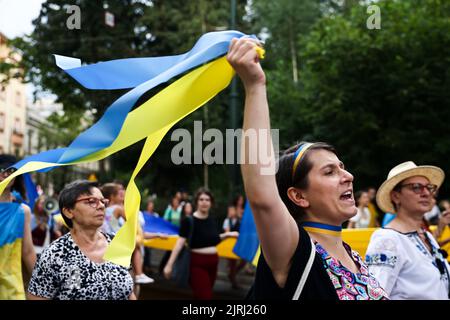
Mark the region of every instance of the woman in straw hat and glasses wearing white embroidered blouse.
<instances>
[{"instance_id":1,"label":"woman in straw hat and glasses wearing white embroidered blouse","mask_svg":"<svg viewBox=\"0 0 450 320\"><path fill-rule=\"evenodd\" d=\"M444 171L408 161L394 167L377 193L377 204L396 217L372 235L369 270L391 299L448 299L449 266L423 216L444 181Z\"/></svg>"}]
</instances>

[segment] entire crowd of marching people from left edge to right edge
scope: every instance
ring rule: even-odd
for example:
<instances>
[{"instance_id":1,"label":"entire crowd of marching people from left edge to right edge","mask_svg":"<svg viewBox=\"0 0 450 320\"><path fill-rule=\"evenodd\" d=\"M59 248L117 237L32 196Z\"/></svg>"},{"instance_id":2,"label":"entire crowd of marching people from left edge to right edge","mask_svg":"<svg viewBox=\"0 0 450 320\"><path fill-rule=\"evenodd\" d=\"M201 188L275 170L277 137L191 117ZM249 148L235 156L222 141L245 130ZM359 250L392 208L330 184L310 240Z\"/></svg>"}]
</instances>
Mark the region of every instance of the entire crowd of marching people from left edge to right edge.
<instances>
[{"instance_id":1,"label":"entire crowd of marching people from left edge to right edge","mask_svg":"<svg viewBox=\"0 0 450 320\"><path fill-rule=\"evenodd\" d=\"M227 59L245 88L243 129L267 129L263 141L266 150L273 151L266 79L257 46L249 38L234 39ZM249 149L243 146L246 158ZM270 160L275 163L273 152ZM1 159L0 181L11 174L14 162L13 157ZM261 245L248 298L450 298L446 260L450 202L437 202L445 178L442 169L407 161L394 166L378 190L371 187L354 193L353 175L335 148L323 142L288 148L273 174L262 174L265 167L267 163L259 162L241 165ZM136 299L134 285L154 281L143 270L151 254L144 249L143 239L165 235L144 231L144 215L159 216L154 199L149 199L140 214L132 271L104 261L108 244L126 221L124 195L119 182L71 182L58 197L61 223L44 210L44 197L35 201L32 210L20 203L25 198L23 183L20 176L12 180L0 197L0 213L15 223L14 228L0 225L0 238L13 244L0 249L1 298L24 296L23 286L18 285L23 283L23 261L30 274L28 299ZM179 237L160 269L170 279L178 256L183 249L189 250L193 297L212 299L218 270L216 246L225 238L238 237L244 197L230 203L222 230L212 214L214 197L209 190L199 189L190 200L187 192L177 192L164 211L163 218L179 227ZM343 226L377 228L365 257L342 240ZM245 265L228 261L233 288L239 286L236 276Z\"/></svg>"}]
</instances>

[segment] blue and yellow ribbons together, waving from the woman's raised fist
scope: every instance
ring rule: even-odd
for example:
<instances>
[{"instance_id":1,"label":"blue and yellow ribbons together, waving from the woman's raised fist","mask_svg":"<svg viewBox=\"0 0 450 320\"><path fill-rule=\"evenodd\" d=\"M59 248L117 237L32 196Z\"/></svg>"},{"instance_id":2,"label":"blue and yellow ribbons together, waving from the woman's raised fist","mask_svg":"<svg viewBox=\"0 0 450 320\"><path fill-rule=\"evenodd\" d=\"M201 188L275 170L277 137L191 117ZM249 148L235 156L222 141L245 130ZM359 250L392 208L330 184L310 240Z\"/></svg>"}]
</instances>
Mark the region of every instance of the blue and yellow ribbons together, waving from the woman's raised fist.
<instances>
[{"instance_id":1,"label":"blue and yellow ribbons together, waving from the woman's raised fist","mask_svg":"<svg viewBox=\"0 0 450 320\"><path fill-rule=\"evenodd\" d=\"M133 89L109 106L101 119L68 147L45 151L16 163L13 167L17 171L0 183L0 193L20 174L97 161L145 138L126 190L127 222L105 255L106 260L128 267L135 246L140 205L135 177L174 124L228 86L234 71L221 56L226 54L231 39L244 36L238 31L211 32L182 55L112 60L87 66L81 66L78 59L55 56L61 69L89 89ZM130 112L144 93L186 71L190 72Z\"/></svg>"}]
</instances>

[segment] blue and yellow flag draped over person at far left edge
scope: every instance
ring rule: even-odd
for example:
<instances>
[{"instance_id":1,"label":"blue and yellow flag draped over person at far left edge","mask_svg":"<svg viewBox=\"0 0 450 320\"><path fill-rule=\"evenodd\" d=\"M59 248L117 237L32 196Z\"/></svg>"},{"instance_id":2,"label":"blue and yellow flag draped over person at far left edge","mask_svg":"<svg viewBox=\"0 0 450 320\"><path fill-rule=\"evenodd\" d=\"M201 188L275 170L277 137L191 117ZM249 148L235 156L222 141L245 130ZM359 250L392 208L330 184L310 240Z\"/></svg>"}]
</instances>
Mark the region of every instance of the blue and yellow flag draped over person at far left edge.
<instances>
[{"instance_id":1,"label":"blue and yellow flag draped over person at far left edge","mask_svg":"<svg viewBox=\"0 0 450 320\"><path fill-rule=\"evenodd\" d=\"M0 300L23 300L22 239L25 212L18 203L0 202Z\"/></svg>"}]
</instances>

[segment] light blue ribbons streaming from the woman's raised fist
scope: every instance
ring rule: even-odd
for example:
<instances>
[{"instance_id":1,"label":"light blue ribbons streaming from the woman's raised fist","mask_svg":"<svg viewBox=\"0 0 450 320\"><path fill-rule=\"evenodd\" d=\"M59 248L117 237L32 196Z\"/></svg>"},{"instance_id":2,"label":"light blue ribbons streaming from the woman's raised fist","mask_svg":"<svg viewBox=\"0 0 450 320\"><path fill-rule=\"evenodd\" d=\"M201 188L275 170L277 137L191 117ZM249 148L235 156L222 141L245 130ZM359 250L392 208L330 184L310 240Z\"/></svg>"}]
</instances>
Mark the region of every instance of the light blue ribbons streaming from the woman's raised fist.
<instances>
[{"instance_id":1,"label":"light blue ribbons streaming from the woman's raised fist","mask_svg":"<svg viewBox=\"0 0 450 320\"><path fill-rule=\"evenodd\" d=\"M55 55L56 64L89 89L134 89L111 104L100 120L79 134L67 148L27 157L13 167L20 168L30 161L70 163L109 147L117 138L129 111L144 93L183 72L224 55L233 38L244 36L246 35L239 31L210 32L182 55L119 59L87 66L81 66L78 59ZM251 37L256 39L255 36ZM50 169L41 171L48 170Z\"/></svg>"}]
</instances>

